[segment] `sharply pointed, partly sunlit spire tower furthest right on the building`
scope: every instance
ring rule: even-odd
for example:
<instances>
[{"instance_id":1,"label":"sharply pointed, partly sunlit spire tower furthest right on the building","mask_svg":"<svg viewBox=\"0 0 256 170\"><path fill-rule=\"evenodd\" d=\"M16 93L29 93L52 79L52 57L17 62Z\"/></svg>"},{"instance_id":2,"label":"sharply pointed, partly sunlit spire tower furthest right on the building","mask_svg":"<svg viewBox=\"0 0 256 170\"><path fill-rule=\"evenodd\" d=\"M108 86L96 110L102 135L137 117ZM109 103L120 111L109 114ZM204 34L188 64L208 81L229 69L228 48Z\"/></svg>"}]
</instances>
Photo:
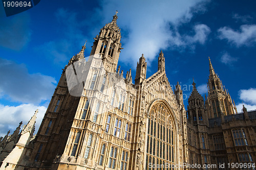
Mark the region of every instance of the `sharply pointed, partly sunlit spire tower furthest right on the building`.
<instances>
[{"instance_id":1,"label":"sharply pointed, partly sunlit spire tower furthest right on the building","mask_svg":"<svg viewBox=\"0 0 256 170\"><path fill-rule=\"evenodd\" d=\"M223 88L219 76L215 73L209 58L209 78L208 78L208 97L205 101L208 117L224 117L225 115L235 114L231 97L227 90Z\"/></svg>"}]
</instances>

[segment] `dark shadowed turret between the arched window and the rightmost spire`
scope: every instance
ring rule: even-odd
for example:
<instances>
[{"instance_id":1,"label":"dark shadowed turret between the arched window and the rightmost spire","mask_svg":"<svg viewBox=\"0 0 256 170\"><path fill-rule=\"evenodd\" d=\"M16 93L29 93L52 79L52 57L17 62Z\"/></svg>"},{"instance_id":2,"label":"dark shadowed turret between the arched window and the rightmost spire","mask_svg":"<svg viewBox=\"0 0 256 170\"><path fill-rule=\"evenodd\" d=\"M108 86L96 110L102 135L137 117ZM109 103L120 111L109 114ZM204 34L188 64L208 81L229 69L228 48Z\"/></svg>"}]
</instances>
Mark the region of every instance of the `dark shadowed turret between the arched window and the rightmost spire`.
<instances>
[{"instance_id":1,"label":"dark shadowed turret between the arched window and the rightmost spire","mask_svg":"<svg viewBox=\"0 0 256 170\"><path fill-rule=\"evenodd\" d=\"M193 91L188 98L187 134L190 164L210 163L210 144L208 137L208 116L204 108L204 100L197 91L193 81Z\"/></svg>"}]
</instances>

